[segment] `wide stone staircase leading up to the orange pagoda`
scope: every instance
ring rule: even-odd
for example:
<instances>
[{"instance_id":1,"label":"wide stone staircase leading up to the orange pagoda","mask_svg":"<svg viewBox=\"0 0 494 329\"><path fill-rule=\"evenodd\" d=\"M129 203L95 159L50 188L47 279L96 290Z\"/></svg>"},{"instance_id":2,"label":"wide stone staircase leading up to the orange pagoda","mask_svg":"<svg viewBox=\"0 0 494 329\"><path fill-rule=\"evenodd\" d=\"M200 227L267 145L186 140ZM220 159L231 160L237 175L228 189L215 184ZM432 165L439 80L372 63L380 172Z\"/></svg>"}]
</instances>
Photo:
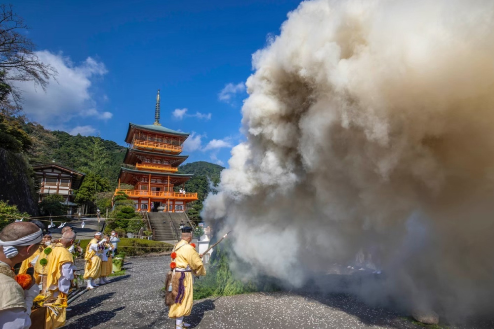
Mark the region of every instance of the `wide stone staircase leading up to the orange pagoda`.
<instances>
[{"instance_id":1,"label":"wide stone staircase leading up to the orange pagoda","mask_svg":"<svg viewBox=\"0 0 494 329\"><path fill-rule=\"evenodd\" d=\"M185 212L146 212L154 240L168 243L180 240L180 223L191 226Z\"/></svg>"}]
</instances>

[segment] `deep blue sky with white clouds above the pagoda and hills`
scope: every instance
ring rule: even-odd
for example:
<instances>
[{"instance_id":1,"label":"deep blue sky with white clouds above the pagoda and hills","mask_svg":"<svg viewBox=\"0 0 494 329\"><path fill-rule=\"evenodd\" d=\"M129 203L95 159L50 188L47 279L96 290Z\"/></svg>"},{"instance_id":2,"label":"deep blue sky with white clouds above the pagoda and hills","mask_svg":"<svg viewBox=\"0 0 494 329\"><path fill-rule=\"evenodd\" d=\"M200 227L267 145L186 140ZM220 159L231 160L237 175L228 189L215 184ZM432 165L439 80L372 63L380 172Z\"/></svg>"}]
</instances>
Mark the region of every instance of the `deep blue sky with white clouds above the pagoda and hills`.
<instances>
[{"instance_id":1,"label":"deep blue sky with white clouds above the pagoda and hills","mask_svg":"<svg viewBox=\"0 0 494 329\"><path fill-rule=\"evenodd\" d=\"M251 55L299 1L14 3L40 59L59 72L46 92L20 85L28 118L125 145L129 122L153 123L161 89L161 123L192 133L189 161L227 165L243 138Z\"/></svg>"}]
</instances>

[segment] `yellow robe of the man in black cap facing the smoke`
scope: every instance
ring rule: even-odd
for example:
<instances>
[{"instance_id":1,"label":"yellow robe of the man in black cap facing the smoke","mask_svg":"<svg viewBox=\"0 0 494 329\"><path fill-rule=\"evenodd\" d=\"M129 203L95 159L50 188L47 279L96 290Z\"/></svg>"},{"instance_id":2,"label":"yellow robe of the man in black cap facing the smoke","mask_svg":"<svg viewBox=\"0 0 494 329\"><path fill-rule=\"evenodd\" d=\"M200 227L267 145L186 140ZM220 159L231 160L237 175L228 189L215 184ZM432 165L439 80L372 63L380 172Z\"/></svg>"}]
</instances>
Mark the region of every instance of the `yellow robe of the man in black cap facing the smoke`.
<instances>
[{"instance_id":1,"label":"yellow robe of the man in black cap facing the smoke","mask_svg":"<svg viewBox=\"0 0 494 329\"><path fill-rule=\"evenodd\" d=\"M184 246L180 247L182 245ZM175 249L178 247L180 248L176 251L177 258L175 258L177 268L186 268L187 265L189 265L192 273L185 273L185 296L181 304L176 303L170 306L170 311L168 312L168 317L170 318L179 318L190 315L190 312L192 311L192 304L194 302L192 276L206 275L206 269L204 268L203 261L199 257L196 249L189 245L185 240L182 240L175 245ZM181 275L181 273L175 272L175 275Z\"/></svg>"}]
</instances>

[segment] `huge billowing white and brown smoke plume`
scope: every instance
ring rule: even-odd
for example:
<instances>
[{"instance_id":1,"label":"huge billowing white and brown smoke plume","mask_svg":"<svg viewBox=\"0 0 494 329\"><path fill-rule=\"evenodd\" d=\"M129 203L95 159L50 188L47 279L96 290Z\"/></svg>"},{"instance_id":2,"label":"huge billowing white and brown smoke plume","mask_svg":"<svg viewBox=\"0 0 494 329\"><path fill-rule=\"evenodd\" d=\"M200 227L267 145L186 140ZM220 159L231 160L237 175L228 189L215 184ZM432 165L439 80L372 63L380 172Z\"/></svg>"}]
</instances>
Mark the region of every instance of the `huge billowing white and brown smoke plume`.
<instances>
[{"instance_id":1,"label":"huge billowing white and brown smoke plume","mask_svg":"<svg viewBox=\"0 0 494 329\"><path fill-rule=\"evenodd\" d=\"M293 286L371 255L384 296L451 315L494 296L494 2L305 1L253 55L203 212Z\"/></svg>"}]
</instances>

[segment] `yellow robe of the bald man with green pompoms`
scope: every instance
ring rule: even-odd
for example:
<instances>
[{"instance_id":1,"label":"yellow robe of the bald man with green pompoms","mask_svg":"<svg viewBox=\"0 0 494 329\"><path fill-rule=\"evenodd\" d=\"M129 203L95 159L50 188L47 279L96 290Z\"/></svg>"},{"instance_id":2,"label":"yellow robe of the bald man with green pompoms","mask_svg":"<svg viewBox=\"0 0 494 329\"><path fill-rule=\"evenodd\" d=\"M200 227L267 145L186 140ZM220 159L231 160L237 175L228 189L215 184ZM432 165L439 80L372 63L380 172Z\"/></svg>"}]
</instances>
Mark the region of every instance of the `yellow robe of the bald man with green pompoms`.
<instances>
[{"instance_id":1,"label":"yellow robe of the bald man with green pompoms","mask_svg":"<svg viewBox=\"0 0 494 329\"><path fill-rule=\"evenodd\" d=\"M49 290L49 295L54 295L58 292L58 298L52 301L54 304L67 304L67 294L60 292L58 290L58 280L61 276L61 267L64 263L74 263L74 257L72 253L62 244L54 244L52 245L53 251L48 255L48 265L46 267L47 270L47 278L46 278L46 287L49 289L51 285L55 286L54 290ZM65 324L65 317L67 314L67 310L65 307L57 308L59 312L58 316L55 315L52 311L48 310L46 316L46 324L45 329L54 329L63 327Z\"/></svg>"}]
</instances>

